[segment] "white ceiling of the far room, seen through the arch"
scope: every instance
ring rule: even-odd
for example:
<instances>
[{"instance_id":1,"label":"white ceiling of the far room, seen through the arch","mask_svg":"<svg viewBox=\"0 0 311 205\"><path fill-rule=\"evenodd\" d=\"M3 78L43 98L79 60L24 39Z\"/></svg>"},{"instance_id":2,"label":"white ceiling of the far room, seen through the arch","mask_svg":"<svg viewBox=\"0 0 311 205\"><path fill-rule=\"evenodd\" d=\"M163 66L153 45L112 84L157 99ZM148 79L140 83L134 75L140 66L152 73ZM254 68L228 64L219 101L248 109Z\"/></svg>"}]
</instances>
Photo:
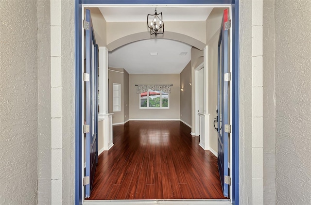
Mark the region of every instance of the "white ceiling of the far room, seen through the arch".
<instances>
[{"instance_id":1,"label":"white ceiling of the far room, seen through the arch","mask_svg":"<svg viewBox=\"0 0 311 205\"><path fill-rule=\"evenodd\" d=\"M129 74L179 74L190 62L190 50L190 45L168 39L137 41L109 52L109 67Z\"/></svg>"}]
</instances>

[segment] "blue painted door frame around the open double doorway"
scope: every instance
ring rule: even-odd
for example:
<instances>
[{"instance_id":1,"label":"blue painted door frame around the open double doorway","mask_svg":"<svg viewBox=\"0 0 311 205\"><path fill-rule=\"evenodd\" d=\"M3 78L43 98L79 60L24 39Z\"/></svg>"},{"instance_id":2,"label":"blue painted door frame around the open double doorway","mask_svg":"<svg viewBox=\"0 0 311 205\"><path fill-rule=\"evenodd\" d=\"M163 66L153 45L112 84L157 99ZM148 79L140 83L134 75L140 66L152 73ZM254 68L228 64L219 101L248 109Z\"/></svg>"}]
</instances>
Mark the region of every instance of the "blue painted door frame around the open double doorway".
<instances>
[{"instance_id":1,"label":"blue painted door frame around the open double doorway","mask_svg":"<svg viewBox=\"0 0 311 205\"><path fill-rule=\"evenodd\" d=\"M82 4L231 4L232 204L239 205L239 0L75 0L75 204L82 204Z\"/></svg>"}]
</instances>

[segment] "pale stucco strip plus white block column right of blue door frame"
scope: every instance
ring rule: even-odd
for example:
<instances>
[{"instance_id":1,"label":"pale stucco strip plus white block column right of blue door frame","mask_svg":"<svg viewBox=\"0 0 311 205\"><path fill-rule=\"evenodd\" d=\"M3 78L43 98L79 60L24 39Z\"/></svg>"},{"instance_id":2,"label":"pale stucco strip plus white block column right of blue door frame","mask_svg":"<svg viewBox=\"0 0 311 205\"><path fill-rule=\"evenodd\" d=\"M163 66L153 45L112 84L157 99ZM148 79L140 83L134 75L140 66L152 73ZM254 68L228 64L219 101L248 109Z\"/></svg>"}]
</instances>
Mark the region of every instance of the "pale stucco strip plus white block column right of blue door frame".
<instances>
[{"instance_id":1,"label":"pale stucco strip plus white block column right of blue door frame","mask_svg":"<svg viewBox=\"0 0 311 205\"><path fill-rule=\"evenodd\" d=\"M260 205L263 204L262 0L241 0L239 12L239 191L243 193L240 204Z\"/></svg>"}]
</instances>

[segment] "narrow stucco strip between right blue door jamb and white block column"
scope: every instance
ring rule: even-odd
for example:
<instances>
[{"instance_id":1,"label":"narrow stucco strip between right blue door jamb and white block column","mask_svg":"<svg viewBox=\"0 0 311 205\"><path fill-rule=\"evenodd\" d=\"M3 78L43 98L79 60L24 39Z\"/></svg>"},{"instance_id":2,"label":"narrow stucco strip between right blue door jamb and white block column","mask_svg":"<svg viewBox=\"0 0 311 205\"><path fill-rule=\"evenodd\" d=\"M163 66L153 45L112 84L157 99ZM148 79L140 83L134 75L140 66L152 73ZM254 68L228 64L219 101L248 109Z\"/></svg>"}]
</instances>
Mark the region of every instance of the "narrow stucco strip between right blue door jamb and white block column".
<instances>
[{"instance_id":1,"label":"narrow stucco strip between right blue door jamb and white block column","mask_svg":"<svg viewBox=\"0 0 311 205\"><path fill-rule=\"evenodd\" d=\"M252 1L240 1L240 204L252 205Z\"/></svg>"}]
</instances>

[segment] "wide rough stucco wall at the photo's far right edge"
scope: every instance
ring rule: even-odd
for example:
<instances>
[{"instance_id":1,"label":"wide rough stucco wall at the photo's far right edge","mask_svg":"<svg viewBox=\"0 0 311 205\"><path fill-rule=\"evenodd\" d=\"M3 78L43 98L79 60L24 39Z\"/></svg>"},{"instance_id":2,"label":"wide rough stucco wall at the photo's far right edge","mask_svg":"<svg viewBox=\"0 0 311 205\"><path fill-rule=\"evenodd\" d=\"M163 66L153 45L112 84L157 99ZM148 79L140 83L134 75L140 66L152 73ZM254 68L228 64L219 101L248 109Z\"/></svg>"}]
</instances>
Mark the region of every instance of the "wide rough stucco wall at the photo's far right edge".
<instances>
[{"instance_id":1,"label":"wide rough stucco wall at the photo's far right edge","mask_svg":"<svg viewBox=\"0 0 311 205\"><path fill-rule=\"evenodd\" d=\"M275 1L276 204L311 204L311 1Z\"/></svg>"}]
</instances>

